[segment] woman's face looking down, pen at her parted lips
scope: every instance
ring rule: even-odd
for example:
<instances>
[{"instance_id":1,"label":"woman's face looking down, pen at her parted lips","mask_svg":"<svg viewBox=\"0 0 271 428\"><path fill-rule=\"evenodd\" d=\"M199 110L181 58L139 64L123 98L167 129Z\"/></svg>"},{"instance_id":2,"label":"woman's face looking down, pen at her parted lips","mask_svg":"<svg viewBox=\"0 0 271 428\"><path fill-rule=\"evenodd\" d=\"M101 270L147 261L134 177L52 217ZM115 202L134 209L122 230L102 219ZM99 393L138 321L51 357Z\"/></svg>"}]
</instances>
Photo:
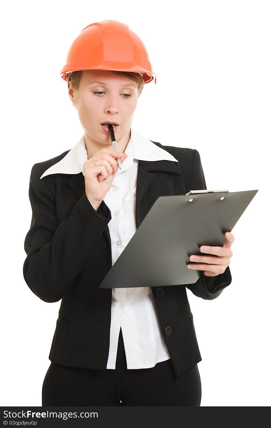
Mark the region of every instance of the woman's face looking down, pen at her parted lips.
<instances>
[{"instance_id":1,"label":"woman's face looking down, pen at her parted lips","mask_svg":"<svg viewBox=\"0 0 271 428\"><path fill-rule=\"evenodd\" d=\"M124 152L137 107L138 83L107 70L84 70L79 88L73 90L70 85L68 94L77 107L79 120L85 131L88 158L91 150L94 153L103 147L113 150L110 134L101 126L101 123L108 120L119 124L114 133L119 151Z\"/></svg>"}]
</instances>

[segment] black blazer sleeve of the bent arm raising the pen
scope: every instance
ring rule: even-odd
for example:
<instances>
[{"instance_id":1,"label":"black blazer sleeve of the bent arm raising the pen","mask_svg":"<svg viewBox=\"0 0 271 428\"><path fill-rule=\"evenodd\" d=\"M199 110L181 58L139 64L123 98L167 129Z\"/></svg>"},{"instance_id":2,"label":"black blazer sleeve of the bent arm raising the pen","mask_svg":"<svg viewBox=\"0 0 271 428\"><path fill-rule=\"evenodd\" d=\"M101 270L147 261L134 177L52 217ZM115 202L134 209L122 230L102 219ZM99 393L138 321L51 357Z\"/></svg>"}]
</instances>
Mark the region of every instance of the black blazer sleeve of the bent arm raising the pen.
<instances>
[{"instance_id":1,"label":"black blazer sleeve of the bent arm raising the pen","mask_svg":"<svg viewBox=\"0 0 271 428\"><path fill-rule=\"evenodd\" d=\"M96 211L84 191L71 215L58 225L56 201L41 174L39 163L35 163L30 174L32 219L24 241L27 258L23 275L36 296L57 302L83 270L89 253L95 251L111 211L104 201Z\"/></svg>"}]
</instances>

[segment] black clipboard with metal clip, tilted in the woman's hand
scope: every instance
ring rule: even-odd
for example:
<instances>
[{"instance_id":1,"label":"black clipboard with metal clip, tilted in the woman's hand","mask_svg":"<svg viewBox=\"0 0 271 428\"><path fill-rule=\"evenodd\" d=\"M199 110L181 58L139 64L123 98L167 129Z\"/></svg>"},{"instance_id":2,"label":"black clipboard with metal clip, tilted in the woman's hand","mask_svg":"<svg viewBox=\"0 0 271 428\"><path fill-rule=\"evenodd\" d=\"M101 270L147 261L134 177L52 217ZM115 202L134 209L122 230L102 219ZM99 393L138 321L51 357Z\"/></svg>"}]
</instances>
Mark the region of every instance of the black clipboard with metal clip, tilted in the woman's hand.
<instances>
[{"instance_id":1,"label":"black clipboard with metal clip, tilted in the woman's hand","mask_svg":"<svg viewBox=\"0 0 271 428\"><path fill-rule=\"evenodd\" d=\"M201 245L220 246L258 190L190 190L159 196L99 288L194 284Z\"/></svg>"}]
</instances>

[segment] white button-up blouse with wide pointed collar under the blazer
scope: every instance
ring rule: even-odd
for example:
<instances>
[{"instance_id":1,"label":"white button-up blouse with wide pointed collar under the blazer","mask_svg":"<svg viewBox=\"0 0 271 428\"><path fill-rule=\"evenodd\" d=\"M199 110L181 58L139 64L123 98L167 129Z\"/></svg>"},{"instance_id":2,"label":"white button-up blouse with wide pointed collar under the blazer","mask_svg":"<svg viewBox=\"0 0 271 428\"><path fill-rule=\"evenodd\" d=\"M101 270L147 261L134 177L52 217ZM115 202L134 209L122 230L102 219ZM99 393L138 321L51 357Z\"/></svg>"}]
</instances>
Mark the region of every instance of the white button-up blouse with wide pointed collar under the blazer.
<instances>
[{"instance_id":1,"label":"white button-up blouse with wide pointed collar under the blazer","mask_svg":"<svg viewBox=\"0 0 271 428\"><path fill-rule=\"evenodd\" d=\"M128 157L123 161L122 169L117 169L113 184L103 199L110 209L112 217L108 223L112 265L137 230L135 206L138 160L174 160L178 162L170 153L156 146L132 127L131 138L125 153ZM56 172L83 173L83 163L86 160L87 152L83 135L76 146L60 162L48 168L42 177ZM170 359L158 321L152 288L112 288L107 369L116 368L120 327L122 328L127 369L146 369Z\"/></svg>"}]
</instances>

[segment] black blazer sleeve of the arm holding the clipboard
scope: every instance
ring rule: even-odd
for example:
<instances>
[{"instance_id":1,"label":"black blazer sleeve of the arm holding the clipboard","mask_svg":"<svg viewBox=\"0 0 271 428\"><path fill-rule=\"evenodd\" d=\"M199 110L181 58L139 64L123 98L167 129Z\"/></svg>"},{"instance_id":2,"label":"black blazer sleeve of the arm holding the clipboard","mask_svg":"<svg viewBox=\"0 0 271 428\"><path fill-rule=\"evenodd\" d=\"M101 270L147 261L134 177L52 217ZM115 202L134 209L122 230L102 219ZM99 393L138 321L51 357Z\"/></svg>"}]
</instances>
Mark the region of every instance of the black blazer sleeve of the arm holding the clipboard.
<instances>
[{"instance_id":1,"label":"black blazer sleeve of the arm holding the clipboard","mask_svg":"<svg viewBox=\"0 0 271 428\"><path fill-rule=\"evenodd\" d=\"M203 190L207 189L203 167L200 160L199 152L194 149L191 178L188 184L187 192L189 190ZM186 287L192 291L197 297L202 297L206 300L213 300L218 297L224 288L232 282L231 272L229 266L225 269L224 273L217 276L205 276L203 270L200 270L200 278L194 284L187 284Z\"/></svg>"}]
</instances>

